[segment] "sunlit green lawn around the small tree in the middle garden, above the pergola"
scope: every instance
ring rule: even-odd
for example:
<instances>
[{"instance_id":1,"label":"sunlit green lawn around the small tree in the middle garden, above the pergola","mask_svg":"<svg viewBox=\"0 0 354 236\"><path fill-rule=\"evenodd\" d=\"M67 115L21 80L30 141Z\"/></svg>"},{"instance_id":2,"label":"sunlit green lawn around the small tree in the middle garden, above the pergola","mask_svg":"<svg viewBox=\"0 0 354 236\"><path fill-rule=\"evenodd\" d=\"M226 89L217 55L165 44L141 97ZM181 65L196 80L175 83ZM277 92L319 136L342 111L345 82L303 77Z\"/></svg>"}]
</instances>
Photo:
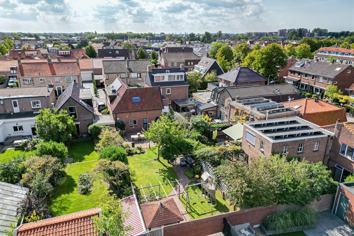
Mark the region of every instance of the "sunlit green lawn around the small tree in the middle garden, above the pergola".
<instances>
[{"instance_id":1,"label":"sunlit green lawn around the small tree in the middle garden, above the pergola","mask_svg":"<svg viewBox=\"0 0 354 236\"><path fill-rule=\"evenodd\" d=\"M130 177L138 188L141 185L148 186L150 183L152 185L167 182L177 178L175 170L166 160L160 158L160 161L154 160L157 157L156 151L148 149L148 152L141 155L128 156ZM172 191L171 186L164 185L164 189L167 194ZM159 191L159 187L154 187L155 191ZM161 194L164 195L162 189L160 189Z\"/></svg>"}]
</instances>

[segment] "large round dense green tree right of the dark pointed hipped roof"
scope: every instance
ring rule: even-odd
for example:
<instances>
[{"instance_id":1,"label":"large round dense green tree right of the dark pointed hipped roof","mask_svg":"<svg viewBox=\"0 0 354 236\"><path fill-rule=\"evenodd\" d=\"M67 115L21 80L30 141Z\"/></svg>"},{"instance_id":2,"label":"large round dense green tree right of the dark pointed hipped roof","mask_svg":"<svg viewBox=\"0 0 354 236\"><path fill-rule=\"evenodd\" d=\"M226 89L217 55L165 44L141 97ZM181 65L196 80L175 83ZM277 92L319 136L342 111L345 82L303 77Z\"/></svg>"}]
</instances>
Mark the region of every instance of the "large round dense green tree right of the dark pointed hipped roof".
<instances>
[{"instance_id":1,"label":"large round dense green tree right of the dark pointed hipped roof","mask_svg":"<svg viewBox=\"0 0 354 236\"><path fill-rule=\"evenodd\" d=\"M270 75L277 75L279 67L286 66L287 59L282 46L271 43L248 54L242 66L247 66L268 78Z\"/></svg>"}]
</instances>

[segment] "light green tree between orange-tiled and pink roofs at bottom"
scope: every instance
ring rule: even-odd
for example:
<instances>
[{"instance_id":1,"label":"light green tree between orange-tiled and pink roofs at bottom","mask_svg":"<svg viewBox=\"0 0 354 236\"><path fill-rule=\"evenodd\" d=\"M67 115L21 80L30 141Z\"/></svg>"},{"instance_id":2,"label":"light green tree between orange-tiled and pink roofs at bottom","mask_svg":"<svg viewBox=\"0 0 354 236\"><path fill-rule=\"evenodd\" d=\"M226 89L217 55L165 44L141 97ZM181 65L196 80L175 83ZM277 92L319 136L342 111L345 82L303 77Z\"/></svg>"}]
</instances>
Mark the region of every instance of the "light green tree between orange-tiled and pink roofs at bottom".
<instances>
[{"instance_id":1,"label":"light green tree between orange-tiled and pink roofs at bottom","mask_svg":"<svg viewBox=\"0 0 354 236\"><path fill-rule=\"evenodd\" d=\"M93 216L95 234L110 236L126 236L132 230L131 226L124 226L124 221L129 217L129 212L123 210L121 201L115 194L104 192L100 198L99 216Z\"/></svg>"}]
</instances>

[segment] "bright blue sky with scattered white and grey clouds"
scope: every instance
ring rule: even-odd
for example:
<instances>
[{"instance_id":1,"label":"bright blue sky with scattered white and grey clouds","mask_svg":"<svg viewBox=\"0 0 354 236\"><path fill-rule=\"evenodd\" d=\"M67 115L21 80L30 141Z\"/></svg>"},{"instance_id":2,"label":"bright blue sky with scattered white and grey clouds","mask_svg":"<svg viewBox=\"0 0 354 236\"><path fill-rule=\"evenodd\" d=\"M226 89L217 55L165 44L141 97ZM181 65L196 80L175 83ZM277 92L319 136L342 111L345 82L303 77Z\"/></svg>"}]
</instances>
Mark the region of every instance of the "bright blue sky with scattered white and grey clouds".
<instances>
[{"instance_id":1,"label":"bright blue sky with scattered white and grey clouds","mask_svg":"<svg viewBox=\"0 0 354 236\"><path fill-rule=\"evenodd\" d=\"M353 13L354 0L0 0L0 31L354 31Z\"/></svg>"}]
</instances>

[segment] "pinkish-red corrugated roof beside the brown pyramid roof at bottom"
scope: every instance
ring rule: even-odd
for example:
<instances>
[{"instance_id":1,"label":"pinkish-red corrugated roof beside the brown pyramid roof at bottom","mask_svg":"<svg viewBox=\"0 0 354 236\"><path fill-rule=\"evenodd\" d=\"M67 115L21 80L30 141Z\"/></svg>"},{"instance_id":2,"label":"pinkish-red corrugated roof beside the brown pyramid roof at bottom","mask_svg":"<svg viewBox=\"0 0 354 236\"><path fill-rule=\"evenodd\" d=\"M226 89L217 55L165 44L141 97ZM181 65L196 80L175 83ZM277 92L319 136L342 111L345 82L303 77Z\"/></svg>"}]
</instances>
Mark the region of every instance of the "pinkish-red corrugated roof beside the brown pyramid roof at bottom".
<instances>
[{"instance_id":1,"label":"pinkish-red corrugated roof beside the brown pyramid roof at bottom","mask_svg":"<svg viewBox=\"0 0 354 236\"><path fill-rule=\"evenodd\" d=\"M123 211L129 212L128 219L124 221L124 226L130 225L133 229L129 232L130 236L140 235L146 231L143 216L140 212L138 200L134 195L121 200Z\"/></svg>"}]
</instances>

